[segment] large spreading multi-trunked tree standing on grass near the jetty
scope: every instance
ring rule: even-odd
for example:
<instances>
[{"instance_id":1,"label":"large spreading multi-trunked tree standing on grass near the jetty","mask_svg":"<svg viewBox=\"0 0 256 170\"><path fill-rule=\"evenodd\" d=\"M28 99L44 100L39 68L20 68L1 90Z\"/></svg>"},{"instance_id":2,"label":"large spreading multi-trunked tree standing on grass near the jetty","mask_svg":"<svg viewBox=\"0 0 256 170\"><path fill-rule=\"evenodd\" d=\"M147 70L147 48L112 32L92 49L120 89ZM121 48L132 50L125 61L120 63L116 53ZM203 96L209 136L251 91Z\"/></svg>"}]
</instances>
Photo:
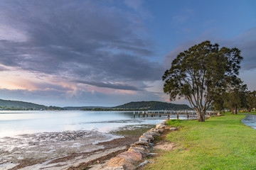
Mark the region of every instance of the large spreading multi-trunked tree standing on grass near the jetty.
<instances>
[{"instance_id":1,"label":"large spreading multi-trunked tree standing on grass near the jetty","mask_svg":"<svg viewBox=\"0 0 256 170\"><path fill-rule=\"evenodd\" d=\"M186 98L198 113L198 121L204 122L214 96L236 79L241 60L238 48L219 48L210 41L201 42L173 60L162 77L164 92L171 101Z\"/></svg>"}]
</instances>

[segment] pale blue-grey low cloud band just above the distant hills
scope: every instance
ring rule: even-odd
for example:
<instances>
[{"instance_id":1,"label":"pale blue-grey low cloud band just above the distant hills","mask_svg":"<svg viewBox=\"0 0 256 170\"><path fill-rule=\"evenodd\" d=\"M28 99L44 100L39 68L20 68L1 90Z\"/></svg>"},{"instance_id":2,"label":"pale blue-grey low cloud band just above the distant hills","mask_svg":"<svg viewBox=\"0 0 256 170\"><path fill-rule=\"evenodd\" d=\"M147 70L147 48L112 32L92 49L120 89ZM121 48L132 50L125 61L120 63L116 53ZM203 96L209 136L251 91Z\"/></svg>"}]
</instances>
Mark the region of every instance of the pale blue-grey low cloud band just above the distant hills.
<instances>
[{"instance_id":1,"label":"pale blue-grey low cloud band just above the distant hills","mask_svg":"<svg viewBox=\"0 0 256 170\"><path fill-rule=\"evenodd\" d=\"M2 99L27 101L43 104L46 106L117 106L130 101L161 101L159 94L147 91L127 94L119 91L104 94L98 91L86 91L75 89L73 91L58 91L55 89L46 90L9 90L0 89Z\"/></svg>"}]
</instances>

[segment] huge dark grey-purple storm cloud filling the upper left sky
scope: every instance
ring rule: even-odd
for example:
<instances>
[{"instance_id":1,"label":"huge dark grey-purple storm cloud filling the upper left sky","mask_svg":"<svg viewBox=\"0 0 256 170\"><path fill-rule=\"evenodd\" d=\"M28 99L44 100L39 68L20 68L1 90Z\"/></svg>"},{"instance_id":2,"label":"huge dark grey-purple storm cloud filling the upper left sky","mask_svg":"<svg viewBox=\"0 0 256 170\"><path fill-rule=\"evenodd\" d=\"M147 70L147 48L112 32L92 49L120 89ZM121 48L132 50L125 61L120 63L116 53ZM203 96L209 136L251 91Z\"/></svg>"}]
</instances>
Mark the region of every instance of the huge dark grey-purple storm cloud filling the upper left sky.
<instances>
[{"instance_id":1,"label":"huge dark grey-purple storm cloud filling the upper left sky","mask_svg":"<svg viewBox=\"0 0 256 170\"><path fill-rule=\"evenodd\" d=\"M100 82L161 77L138 17L100 1L2 1L0 23L17 33L0 40L6 66Z\"/></svg>"}]
</instances>

